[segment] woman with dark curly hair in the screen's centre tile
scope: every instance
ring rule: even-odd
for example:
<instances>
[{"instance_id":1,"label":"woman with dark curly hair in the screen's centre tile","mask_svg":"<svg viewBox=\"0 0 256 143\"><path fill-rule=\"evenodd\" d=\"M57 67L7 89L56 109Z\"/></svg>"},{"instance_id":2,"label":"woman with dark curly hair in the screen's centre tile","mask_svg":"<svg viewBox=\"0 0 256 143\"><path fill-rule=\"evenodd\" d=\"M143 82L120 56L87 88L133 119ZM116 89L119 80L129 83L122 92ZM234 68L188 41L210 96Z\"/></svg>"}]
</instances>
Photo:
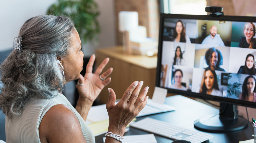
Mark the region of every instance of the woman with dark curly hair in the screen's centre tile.
<instances>
[{"instance_id":1,"label":"woman with dark curly hair in the screen's centre tile","mask_svg":"<svg viewBox=\"0 0 256 143\"><path fill-rule=\"evenodd\" d=\"M216 70L216 71L225 71L224 69L220 68L220 65L222 65L222 54L219 50L213 48L209 48L205 52L205 61L206 64L209 66L205 68L205 70Z\"/></svg>"}]
</instances>

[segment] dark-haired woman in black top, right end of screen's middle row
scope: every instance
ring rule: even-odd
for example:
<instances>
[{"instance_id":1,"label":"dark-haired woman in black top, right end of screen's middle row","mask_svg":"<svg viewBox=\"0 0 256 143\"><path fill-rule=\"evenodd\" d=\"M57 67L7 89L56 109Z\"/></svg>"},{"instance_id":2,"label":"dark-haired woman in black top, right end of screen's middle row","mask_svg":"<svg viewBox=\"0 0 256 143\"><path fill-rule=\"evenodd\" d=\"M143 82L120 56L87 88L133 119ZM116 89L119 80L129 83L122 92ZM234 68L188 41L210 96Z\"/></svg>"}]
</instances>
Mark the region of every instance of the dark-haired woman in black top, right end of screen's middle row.
<instances>
[{"instance_id":1,"label":"dark-haired woman in black top, right end of screen's middle row","mask_svg":"<svg viewBox=\"0 0 256 143\"><path fill-rule=\"evenodd\" d=\"M255 75L255 62L254 56L252 54L248 54L245 58L245 65L241 66L237 73L250 74Z\"/></svg>"}]
</instances>

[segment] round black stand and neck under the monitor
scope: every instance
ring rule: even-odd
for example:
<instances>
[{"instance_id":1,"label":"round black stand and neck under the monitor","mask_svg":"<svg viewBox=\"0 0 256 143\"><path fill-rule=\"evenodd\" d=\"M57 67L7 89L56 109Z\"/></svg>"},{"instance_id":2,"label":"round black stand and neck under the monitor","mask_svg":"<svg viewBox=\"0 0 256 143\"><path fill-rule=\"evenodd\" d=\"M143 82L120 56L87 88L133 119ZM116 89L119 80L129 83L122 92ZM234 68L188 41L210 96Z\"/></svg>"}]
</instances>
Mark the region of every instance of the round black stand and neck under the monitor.
<instances>
[{"instance_id":1,"label":"round black stand and neck under the monitor","mask_svg":"<svg viewBox=\"0 0 256 143\"><path fill-rule=\"evenodd\" d=\"M220 114L198 119L194 127L204 132L232 132L244 129L247 123L238 117L237 105L220 103Z\"/></svg>"}]
</instances>

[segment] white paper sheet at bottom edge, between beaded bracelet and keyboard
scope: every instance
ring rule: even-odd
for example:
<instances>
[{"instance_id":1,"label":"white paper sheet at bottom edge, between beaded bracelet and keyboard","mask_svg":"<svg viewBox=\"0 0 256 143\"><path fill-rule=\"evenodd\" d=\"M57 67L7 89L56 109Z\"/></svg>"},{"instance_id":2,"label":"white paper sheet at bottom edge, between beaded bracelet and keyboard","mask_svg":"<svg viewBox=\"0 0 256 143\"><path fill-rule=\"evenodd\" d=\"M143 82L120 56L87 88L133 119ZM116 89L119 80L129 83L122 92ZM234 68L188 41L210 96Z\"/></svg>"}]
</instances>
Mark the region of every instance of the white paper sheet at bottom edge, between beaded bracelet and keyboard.
<instances>
[{"instance_id":1,"label":"white paper sheet at bottom edge, between beaded bracelet and keyboard","mask_svg":"<svg viewBox=\"0 0 256 143\"><path fill-rule=\"evenodd\" d=\"M146 135L124 135L123 143L157 143L156 137L154 134ZM103 137L105 142L106 137Z\"/></svg>"}]
</instances>

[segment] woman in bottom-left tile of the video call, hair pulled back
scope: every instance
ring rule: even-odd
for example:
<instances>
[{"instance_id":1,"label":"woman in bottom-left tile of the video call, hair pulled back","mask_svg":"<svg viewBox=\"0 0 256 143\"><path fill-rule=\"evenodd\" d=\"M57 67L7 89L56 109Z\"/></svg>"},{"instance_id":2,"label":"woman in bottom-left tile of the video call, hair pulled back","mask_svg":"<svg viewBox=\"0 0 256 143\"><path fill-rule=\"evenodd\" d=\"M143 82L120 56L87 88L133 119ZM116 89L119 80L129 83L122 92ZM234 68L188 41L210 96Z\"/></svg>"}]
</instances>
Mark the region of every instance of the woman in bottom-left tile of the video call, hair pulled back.
<instances>
[{"instance_id":1,"label":"woman in bottom-left tile of the video call, hair pulled back","mask_svg":"<svg viewBox=\"0 0 256 143\"><path fill-rule=\"evenodd\" d=\"M186 87L181 85L181 80L183 77L183 73L180 69L174 71L173 78L174 84L170 88L179 89L179 90L187 90Z\"/></svg>"}]
</instances>

